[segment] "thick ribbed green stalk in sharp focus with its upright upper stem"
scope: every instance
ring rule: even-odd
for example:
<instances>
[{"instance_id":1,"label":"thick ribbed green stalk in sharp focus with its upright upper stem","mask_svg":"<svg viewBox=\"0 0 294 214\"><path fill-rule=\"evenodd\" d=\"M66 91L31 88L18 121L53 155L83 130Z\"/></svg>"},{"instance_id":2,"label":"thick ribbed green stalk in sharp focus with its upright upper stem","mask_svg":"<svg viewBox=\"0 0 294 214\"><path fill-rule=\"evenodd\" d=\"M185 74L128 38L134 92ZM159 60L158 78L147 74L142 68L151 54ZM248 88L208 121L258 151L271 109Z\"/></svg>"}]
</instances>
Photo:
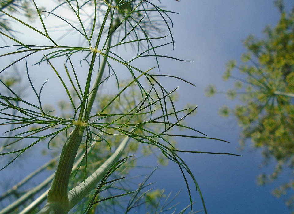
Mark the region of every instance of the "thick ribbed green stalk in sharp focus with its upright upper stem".
<instances>
[{"instance_id":1,"label":"thick ribbed green stalk in sharp focus with its upright upper stem","mask_svg":"<svg viewBox=\"0 0 294 214\"><path fill-rule=\"evenodd\" d=\"M92 71L93 71L93 67L94 67L95 59L97 55L97 48L101 39L103 27L107 21L108 14L110 12L110 9L111 7L109 6L106 11L104 21L101 25L100 33L98 35L95 48L93 50L92 60L90 63L88 77L87 77L87 84L84 91L84 98L86 98L89 95L89 85L91 82ZM111 36L108 38L107 46L109 46L110 43L111 43ZM91 112L91 109L97 94L98 86L101 82L101 79L104 73L105 65L106 65L106 59L104 58L99 68L99 72L94 82L94 85L92 87L92 93L89 95L87 107L86 109L85 107L81 108L78 121L76 122L77 126L75 127L74 132L72 133L72 135L70 135L70 137L68 138L68 140L66 141L65 145L62 148L62 152L61 152L60 160L56 169L56 173L52 181L50 190L48 192L47 204L40 211L40 213L66 214L70 210L70 201L67 195L70 174L71 174L71 170L72 170L74 160L77 154L77 150L83 138L83 133L85 130L85 125L86 125L85 121L88 121L89 114Z\"/></svg>"}]
</instances>

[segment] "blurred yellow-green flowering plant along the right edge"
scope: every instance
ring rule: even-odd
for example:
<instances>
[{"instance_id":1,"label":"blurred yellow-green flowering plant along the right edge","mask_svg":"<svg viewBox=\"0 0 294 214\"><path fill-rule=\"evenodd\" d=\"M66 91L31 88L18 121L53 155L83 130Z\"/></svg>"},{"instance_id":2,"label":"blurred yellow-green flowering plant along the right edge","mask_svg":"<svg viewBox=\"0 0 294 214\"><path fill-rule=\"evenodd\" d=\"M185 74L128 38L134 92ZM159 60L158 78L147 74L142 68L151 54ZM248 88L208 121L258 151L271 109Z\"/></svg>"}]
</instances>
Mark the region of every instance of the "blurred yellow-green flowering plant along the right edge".
<instances>
[{"instance_id":1,"label":"blurred yellow-green flowering plant along the right edge","mask_svg":"<svg viewBox=\"0 0 294 214\"><path fill-rule=\"evenodd\" d=\"M256 148L262 148L265 164L276 160L272 174L258 177L260 184L277 179L284 167L294 168L294 7L287 12L283 1L275 4L281 12L277 26L265 28L265 39L251 35L244 41L248 52L242 55L241 65L235 60L227 64L223 78L236 82L226 96L238 97L241 104L233 109L222 106L219 112L221 116L232 113L237 118L242 128L242 146L251 139ZM217 90L211 85L205 93L212 96ZM286 194L294 188L292 180L293 177L273 193L277 197ZM291 200L286 201L290 208Z\"/></svg>"}]
</instances>

